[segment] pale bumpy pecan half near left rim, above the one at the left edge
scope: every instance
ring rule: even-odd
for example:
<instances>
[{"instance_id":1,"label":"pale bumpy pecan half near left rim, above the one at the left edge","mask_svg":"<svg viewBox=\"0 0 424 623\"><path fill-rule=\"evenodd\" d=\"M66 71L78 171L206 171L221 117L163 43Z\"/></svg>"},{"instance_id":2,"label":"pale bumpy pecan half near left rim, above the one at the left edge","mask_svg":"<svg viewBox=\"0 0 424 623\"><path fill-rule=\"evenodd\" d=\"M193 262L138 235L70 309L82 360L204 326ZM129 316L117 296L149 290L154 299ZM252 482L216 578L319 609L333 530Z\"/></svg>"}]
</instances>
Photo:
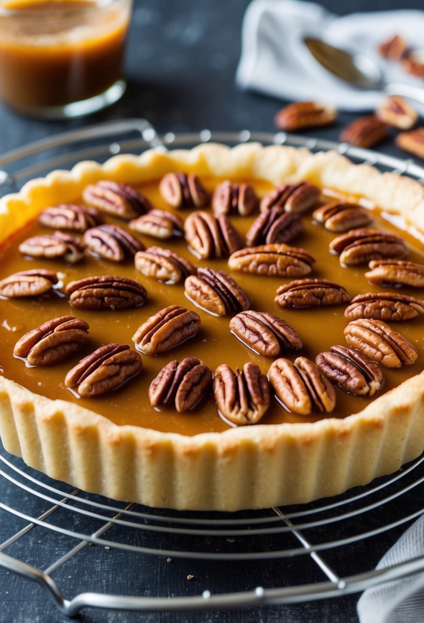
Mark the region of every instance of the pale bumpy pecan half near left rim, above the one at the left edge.
<instances>
[{"instance_id":1,"label":"pale bumpy pecan half near left rim, above the one at the left edge","mask_svg":"<svg viewBox=\"0 0 424 623\"><path fill-rule=\"evenodd\" d=\"M84 257L84 245L80 239L60 231L27 238L21 242L19 250L30 257L44 257L49 260L63 257L69 264L76 264Z\"/></svg>"}]
</instances>

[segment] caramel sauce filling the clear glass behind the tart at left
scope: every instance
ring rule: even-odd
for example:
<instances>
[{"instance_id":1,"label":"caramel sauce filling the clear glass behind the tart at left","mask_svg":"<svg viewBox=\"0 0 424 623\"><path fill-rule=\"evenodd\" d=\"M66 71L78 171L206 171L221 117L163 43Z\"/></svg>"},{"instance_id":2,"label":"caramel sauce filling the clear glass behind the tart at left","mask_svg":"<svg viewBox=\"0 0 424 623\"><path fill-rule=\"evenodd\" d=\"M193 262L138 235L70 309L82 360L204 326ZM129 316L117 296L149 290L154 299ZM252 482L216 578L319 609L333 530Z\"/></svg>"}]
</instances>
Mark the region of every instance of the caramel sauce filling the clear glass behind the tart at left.
<instances>
[{"instance_id":1,"label":"caramel sauce filling the clear glass behind the tart at left","mask_svg":"<svg viewBox=\"0 0 424 623\"><path fill-rule=\"evenodd\" d=\"M130 12L131 0L0 0L2 101L48 117L105 93L122 78Z\"/></svg>"}]
</instances>

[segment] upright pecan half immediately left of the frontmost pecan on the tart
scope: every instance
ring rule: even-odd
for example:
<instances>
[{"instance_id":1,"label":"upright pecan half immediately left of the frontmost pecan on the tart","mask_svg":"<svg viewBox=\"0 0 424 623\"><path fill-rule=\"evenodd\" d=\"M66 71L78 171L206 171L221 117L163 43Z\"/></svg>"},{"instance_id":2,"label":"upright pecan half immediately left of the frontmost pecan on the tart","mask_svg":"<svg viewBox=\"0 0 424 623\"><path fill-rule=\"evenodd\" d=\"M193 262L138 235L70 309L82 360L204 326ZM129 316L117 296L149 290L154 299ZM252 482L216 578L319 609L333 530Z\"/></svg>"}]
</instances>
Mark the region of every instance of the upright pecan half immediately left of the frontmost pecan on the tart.
<instances>
[{"instance_id":1,"label":"upright pecan half immediately left of the frontmost pecan on the tart","mask_svg":"<svg viewBox=\"0 0 424 623\"><path fill-rule=\"evenodd\" d=\"M150 404L175 407L179 413L190 411L205 395L212 376L208 366L197 357L186 357L181 363L170 361L150 383Z\"/></svg>"}]
</instances>

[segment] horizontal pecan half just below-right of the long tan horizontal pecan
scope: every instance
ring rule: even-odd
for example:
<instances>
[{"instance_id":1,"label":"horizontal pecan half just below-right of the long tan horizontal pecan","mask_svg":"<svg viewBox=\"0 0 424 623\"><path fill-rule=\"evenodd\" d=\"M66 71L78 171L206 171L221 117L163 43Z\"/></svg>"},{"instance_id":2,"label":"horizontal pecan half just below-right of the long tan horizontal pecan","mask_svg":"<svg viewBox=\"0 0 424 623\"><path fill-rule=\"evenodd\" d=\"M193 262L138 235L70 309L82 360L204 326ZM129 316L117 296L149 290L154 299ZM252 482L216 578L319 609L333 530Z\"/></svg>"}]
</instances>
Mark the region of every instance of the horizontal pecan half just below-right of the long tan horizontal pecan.
<instances>
[{"instance_id":1,"label":"horizontal pecan half just below-right of the long tan horizontal pecan","mask_svg":"<svg viewBox=\"0 0 424 623\"><path fill-rule=\"evenodd\" d=\"M349 303L343 286L326 279L297 279L277 289L275 303L280 307L328 307Z\"/></svg>"}]
</instances>

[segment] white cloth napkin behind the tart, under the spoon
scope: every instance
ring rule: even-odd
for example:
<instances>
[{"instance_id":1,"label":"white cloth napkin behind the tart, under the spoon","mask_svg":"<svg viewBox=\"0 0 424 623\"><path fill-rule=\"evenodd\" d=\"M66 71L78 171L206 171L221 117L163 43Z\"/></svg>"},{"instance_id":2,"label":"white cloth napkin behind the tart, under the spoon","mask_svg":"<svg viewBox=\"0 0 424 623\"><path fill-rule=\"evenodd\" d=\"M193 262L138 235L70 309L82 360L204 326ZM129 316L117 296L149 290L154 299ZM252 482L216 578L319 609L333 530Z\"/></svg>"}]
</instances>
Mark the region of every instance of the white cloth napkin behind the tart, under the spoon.
<instances>
[{"instance_id":1,"label":"white cloth napkin behind the tart, under the spoon","mask_svg":"<svg viewBox=\"0 0 424 623\"><path fill-rule=\"evenodd\" d=\"M399 63L382 59L377 48L395 34L413 49L424 49L424 11L380 11L337 17L312 2L254 0L242 26L242 52L236 83L286 100L321 100L341 110L371 110L381 91L351 87L321 67L303 44L320 37L348 51L362 52L381 67L386 82L424 86Z\"/></svg>"}]
</instances>

